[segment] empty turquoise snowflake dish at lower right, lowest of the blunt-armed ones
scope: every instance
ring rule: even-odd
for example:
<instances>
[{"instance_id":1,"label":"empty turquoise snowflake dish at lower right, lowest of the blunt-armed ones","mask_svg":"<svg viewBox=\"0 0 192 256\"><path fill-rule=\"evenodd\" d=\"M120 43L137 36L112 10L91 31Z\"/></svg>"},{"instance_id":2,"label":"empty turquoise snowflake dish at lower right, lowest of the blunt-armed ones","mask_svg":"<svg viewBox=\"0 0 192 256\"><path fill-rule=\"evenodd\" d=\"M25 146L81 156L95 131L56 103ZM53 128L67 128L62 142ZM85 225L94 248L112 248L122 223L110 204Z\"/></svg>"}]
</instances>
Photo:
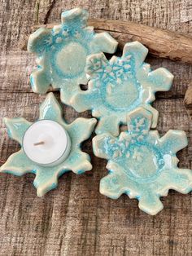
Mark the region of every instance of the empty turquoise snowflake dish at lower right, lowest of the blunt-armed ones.
<instances>
[{"instance_id":1,"label":"empty turquoise snowflake dish at lower right, lowest of the blunt-armed ones","mask_svg":"<svg viewBox=\"0 0 192 256\"><path fill-rule=\"evenodd\" d=\"M100 192L113 199L123 193L137 198L139 208L154 215L163 209L159 196L167 196L169 189L192 190L192 171L177 167L176 153L187 145L185 132L169 130L159 138L157 130L150 130L151 120L149 111L137 108L128 117L128 131L118 137L97 135L93 148L108 160Z\"/></svg>"}]
</instances>

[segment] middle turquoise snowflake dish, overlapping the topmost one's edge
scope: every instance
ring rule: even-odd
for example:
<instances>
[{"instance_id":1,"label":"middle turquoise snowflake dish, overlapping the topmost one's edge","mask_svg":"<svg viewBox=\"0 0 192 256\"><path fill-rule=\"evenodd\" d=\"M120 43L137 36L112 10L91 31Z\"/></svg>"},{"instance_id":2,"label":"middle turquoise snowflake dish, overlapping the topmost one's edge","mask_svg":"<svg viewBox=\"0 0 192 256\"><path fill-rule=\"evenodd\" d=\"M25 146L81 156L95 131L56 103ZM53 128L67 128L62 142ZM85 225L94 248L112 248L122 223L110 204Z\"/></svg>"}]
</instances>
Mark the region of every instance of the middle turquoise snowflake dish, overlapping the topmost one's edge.
<instances>
[{"instance_id":1,"label":"middle turquoise snowflake dish, overlapping the topmost one's edge","mask_svg":"<svg viewBox=\"0 0 192 256\"><path fill-rule=\"evenodd\" d=\"M169 90L173 76L165 68L151 71L143 62L147 52L140 42L129 42L121 58L113 56L108 61L103 53L88 57L89 88L74 95L71 104L78 112L91 109L99 118L97 134L119 135L119 125L126 123L127 114L141 106L153 113L152 127L156 126L158 112L151 102L156 91Z\"/></svg>"}]
</instances>

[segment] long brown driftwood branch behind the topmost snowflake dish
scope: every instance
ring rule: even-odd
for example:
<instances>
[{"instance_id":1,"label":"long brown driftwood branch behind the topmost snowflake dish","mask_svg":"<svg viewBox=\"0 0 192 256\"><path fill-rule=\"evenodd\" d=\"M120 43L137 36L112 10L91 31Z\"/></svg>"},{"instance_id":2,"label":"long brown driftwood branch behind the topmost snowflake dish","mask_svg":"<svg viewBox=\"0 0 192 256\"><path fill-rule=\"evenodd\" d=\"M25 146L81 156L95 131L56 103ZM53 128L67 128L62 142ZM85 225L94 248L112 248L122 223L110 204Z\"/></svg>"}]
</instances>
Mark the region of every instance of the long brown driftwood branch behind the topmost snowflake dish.
<instances>
[{"instance_id":1,"label":"long brown driftwood branch behind the topmost snowflake dish","mask_svg":"<svg viewBox=\"0 0 192 256\"><path fill-rule=\"evenodd\" d=\"M120 48L130 41L142 42L151 55L170 60L192 64L192 37L187 34L174 33L165 29L157 29L143 24L119 20L89 20L98 32L107 31L119 42ZM55 24L33 26L53 28Z\"/></svg>"}]
</instances>

